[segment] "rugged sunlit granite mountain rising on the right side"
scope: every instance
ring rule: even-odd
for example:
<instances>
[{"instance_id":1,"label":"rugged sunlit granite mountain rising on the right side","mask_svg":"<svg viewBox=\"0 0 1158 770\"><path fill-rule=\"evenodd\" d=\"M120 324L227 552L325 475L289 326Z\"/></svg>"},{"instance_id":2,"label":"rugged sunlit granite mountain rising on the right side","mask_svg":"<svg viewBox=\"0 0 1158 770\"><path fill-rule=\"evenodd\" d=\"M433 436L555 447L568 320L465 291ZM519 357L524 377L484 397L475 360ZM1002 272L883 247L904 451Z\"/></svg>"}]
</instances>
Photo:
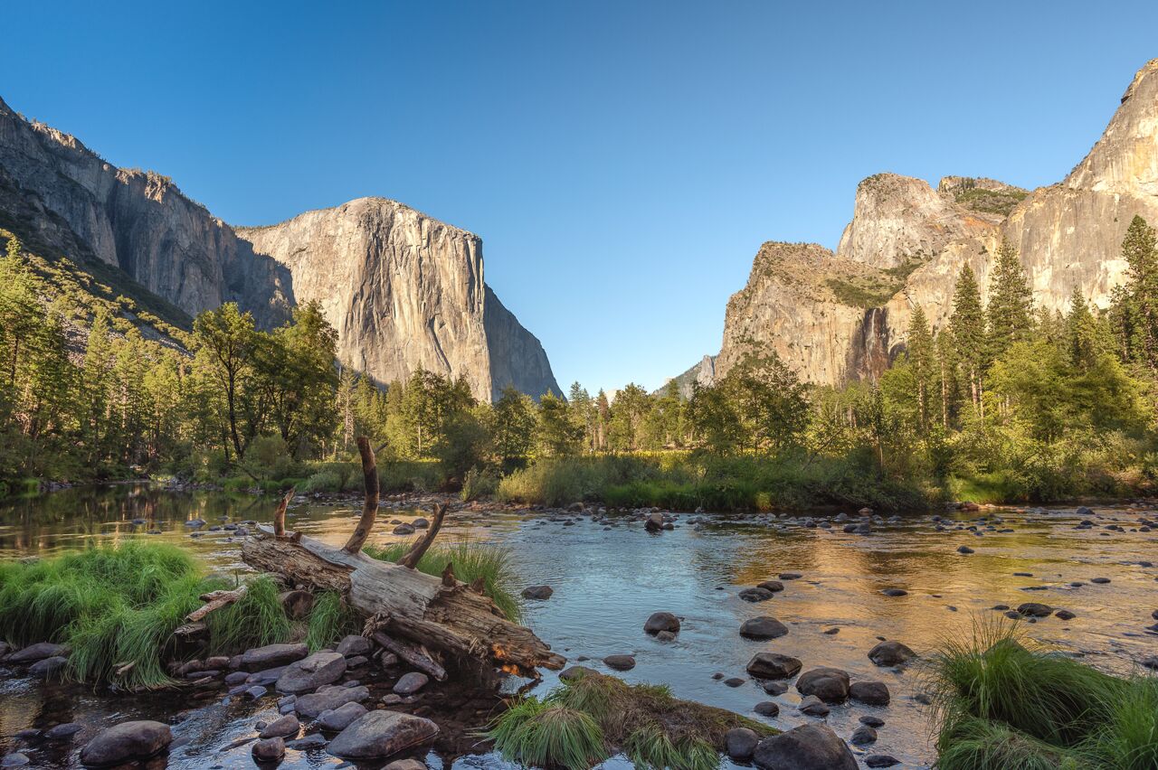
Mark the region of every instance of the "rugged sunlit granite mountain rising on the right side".
<instances>
[{"instance_id":1,"label":"rugged sunlit granite mountain rising on the right side","mask_svg":"<svg viewBox=\"0 0 1158 770\"><path fill-rule=\"evenodd\" d=\"M1004 183L878 173L857 186L836 252L769 242L727 304L714 376L767 343L802 379L874 378L904 349L921 306L948 320L963 265L988 291L1003 239L1018 249L1034 301L1067 306L1075 287L1106 306L1126 279L1130 220L1158 223L1158 59L1135 75L1090 154L1062 182L1032 192Z\"/></svg>"}]
</instances>

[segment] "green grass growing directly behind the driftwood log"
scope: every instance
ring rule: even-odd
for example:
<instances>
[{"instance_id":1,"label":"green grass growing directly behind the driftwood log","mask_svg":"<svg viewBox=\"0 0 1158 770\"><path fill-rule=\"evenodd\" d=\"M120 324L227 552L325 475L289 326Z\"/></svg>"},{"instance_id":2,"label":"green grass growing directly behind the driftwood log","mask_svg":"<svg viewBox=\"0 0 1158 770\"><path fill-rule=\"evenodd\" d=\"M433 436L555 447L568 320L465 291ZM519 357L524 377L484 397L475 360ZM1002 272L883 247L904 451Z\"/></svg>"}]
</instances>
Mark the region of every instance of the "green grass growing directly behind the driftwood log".
<instances>
[{"instance_id":1,"label":"green grass growing directly behind the driftwood log","mask_svg":"<svg viewBox=\"0 0 1158 770\"><path fill-rule=\"evenodd\" d=\"M388 546L366 546L362 553L382 562L397 562L410 550L409 542ZM432 546L418 562L418 571L441 575L447 564L454 564L454 576L463 583L483 579L483 593L491 598L511 622L522 617L522 597L516 588L518 577L511 567L511 550L504 546L464 540L446 546ZM316 609L315 609L316 612Z\"/></svg>"}]
</instances>

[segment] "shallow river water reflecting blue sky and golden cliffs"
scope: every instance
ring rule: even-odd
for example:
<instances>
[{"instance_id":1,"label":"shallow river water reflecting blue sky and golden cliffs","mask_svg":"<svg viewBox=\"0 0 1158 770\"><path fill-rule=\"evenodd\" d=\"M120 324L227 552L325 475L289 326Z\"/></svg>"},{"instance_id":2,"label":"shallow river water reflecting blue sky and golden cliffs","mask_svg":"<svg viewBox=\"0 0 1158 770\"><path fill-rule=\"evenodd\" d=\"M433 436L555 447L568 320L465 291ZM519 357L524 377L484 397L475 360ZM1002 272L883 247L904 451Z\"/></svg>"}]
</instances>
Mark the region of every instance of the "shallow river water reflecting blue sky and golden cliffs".
<instances>
[{"instance_id":1,"label":"shallow river water reflecting blue sky and golden cliffs","mask_svg":"<svg viewBox=\"0 0 1158 770\"><path fill-rule=\"evenodd\" d=\"M140 486L72 489L0 503L0 558L50 556L94 542L149 538L181 543L213 569L243 571L240 541L228 531L191 536L183 523L266 520L273 504L267 497ZM296 505L288 526L342 543L359 505L358 501ZM892 754L903 763L897 767L923 768L935 760L930 708L922 703L925 674L919 662L901 669L874 666L866 653L880 639L897 639L928 654L946 638L968 638L977 623L1003 620L995 605L1039 601L1069 609L1076 617L1050 616L1027 624L1027 634L1099 668L1134 672L1142 658L1158 652L1158 635L1146 629L1158 607L1158 568L1151 564L1158 562L1158 532L1139 531L1138 521L1155 518L1153 508L1092 508L1095 512L1084 516L1072 506L907 514L878 520L867 535L843 532L836 511L811 514L813 524L828 521L829 528L806 526L809 514L804 513L684 513L676 516L674 530L652 534L632 514L609 514L603 524L582 514L460 510L448 514L439 541L507 546L520 587L548 584L555 590L549 600L527 602L525 622L571 662L588 658L582 665L606 671L599 662L604 656L633 654L636 667L617 674L629 682L667 683L679 697L789 728L813 719L797 712L794 690L770 697L754 681L733 688L713 674L747 680L745 666L752 656L775 651L799 658L805 669L834 666L850 672L853 681L884 681L892 691L888 706L849 702L833 708L826 720L846 739L859 717L878 716L886 723L878 731L880 738L867 752L855 749L858 756ZM386 523L425 516L427 510L413 502L383 503L371 541L400 539ZM845 513L858 520L853 511ZM936 516L944 519L944 531L937 531ZM1075 528L1083 518L1093 526ZM134 519L144 523L134 525ZM149 531L160 533L146 534ZM975 553L959 554L961 545ZM774 599L749 604L739 598L740 590L784 572L801 577L783 580L785 590ZM1109 582L1091 583L1093 578ZM882 593L888 588L907 594ZM659 642L643 632L644 621L657 610L682 619L675 641ZM757 615L777 617L789 634L768 642L740 637L740 624ZM838 632L824 632L834 628ZM555 675L548 674L538 691L555 683ZM779 717L752 712L768 699L779 704ZM111 698L76 686L0 680L0 756L20 748L35 767L72 767L78 747L102 726L127 718L164 719L196 708L174 726L183 745L157 767L166 762L173 768L252 767L250 747L230 748L230 743L255 734L257 719L276 716L273 698L266 701L222 704L218 698L201 705L164 694ZM481 724L485 713L479 715ZM22 730L64 721L86 726L72 743L29 745L14 738ZM493 755L440 758L432 753L426 758L431 767L504 765ZM324 750L291 750L283 767L338 763ZM608 763L613 765L630 767Z\"/></svg>"}]
</instances>

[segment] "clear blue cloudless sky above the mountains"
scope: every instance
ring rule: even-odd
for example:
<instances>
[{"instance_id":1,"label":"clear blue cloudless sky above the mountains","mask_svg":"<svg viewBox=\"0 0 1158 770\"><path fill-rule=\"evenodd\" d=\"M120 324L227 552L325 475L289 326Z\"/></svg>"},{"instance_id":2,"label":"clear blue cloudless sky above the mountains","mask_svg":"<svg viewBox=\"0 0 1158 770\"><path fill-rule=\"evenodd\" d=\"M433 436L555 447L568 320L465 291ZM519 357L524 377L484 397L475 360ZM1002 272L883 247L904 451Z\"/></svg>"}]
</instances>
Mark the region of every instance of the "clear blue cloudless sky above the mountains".
<instances>
[{"instance_id":1,"label":"clear blue cloudless sky above the mountains","mask_svg":"<svg viewBox=\"0 0 1158 770\"><path fill-rule=\"evenodd\" d=\"M9 2L2 29L13 109L227 222L374 194L477 232L592 390L716 353L760 244L835 246L863 177L1061 179L1158 55L1152 0Z\"/></svg>"}]
</instances>

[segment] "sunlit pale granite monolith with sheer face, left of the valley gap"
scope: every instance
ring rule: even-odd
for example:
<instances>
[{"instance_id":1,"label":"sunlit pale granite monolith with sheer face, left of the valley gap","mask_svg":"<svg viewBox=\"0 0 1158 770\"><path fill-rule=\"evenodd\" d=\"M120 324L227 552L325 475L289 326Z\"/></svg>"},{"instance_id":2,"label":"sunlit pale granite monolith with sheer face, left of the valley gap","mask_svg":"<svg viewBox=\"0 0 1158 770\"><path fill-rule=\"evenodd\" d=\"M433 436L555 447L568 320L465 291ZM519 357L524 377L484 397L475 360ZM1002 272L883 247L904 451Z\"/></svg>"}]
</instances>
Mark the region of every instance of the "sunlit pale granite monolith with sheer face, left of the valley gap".
<instances>
[{"instance_id":1,"label":"sunlit pale granite monolith with sheer face, left of the valley gap","mask_svg":"<svg viewBox=\"0 0 1158 770\"><path fill-rule=\"evenodd\" d=\"M419 368L463 376L476 398L559 393L547 354L483 282L483 242L397 201L359 198L280 224L237 228L338 331L338 358L379 382Z\"/></svg>"}]
</instances>

